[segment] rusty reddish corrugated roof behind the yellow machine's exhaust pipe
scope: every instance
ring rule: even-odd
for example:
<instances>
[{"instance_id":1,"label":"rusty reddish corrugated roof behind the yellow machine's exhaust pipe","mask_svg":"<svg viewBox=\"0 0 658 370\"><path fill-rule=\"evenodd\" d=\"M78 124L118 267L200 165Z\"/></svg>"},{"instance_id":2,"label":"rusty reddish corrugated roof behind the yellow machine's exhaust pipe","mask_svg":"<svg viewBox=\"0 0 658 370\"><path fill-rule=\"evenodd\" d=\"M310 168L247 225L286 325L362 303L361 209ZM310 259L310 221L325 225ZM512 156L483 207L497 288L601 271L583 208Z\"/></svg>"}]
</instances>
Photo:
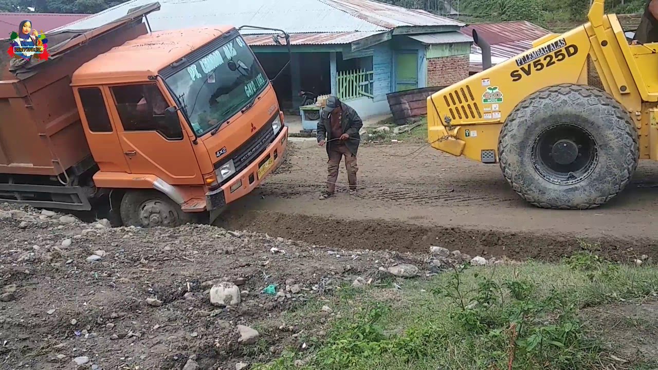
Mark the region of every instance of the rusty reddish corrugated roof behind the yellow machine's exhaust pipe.
<instances>
[{"instance_id":1,"label":"rusty reddish corrugated roof behind the yellow machine's exhaust pipe","mask_svg":"<svg viewBox=\"0 0 658 370\"><path fill-rule=\"evenodd\" d=\"M527 22L518 20L512 22L473 23L460 30L465 36L473 30L491 45L492 65L503 63L532 48L532 41L543 38L551 32ZM469 66L470 74L482 71L482 50L478 45L472 45Z\"/></svg>"}]
</instances>

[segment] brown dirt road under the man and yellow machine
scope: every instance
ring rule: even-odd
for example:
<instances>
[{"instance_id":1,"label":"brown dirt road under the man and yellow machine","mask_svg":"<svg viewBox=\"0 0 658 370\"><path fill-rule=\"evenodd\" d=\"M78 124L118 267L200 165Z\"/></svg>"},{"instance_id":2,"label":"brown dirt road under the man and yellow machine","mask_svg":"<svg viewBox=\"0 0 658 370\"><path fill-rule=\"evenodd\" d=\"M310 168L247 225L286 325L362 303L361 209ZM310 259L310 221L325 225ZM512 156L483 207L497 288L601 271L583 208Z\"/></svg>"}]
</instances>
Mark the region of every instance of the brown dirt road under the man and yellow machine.
<instances>
[{"instance_id":1,"label":"brown dirt road under the man and yellow machine","mask_svg":"<svg viewBox=\"0 0 658 370\"><path fill-rule=\"evenodd\" d=\"M641 162L632 184L604 207L553 211L520 199L498 165L423 146L362 145L358 196L343 191L320 201L325 149L313 140L293 142L288 162L219 223L313 243L332 240L343 248L422 251L442 245L471 254L555 259L585 238L617 259L658 253L658 229L651 227L658 201L655 163ZM338 182L345 190L344 169Z\"/></svg>"}]
</instances>

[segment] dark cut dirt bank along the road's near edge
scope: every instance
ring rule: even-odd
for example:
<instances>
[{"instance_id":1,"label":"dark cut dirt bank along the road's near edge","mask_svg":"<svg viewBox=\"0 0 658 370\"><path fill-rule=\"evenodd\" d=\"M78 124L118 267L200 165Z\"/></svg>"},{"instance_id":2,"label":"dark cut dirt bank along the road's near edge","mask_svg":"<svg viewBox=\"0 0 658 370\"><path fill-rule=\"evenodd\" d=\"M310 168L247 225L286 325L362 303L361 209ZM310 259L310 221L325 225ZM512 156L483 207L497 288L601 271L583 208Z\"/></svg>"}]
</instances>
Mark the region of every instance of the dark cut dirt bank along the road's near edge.
<instances>
[{"instance_id":1,"label":"dark cut dirt bank along the road's near edge","mask_svg":"<svg viewBox=\"0 0 658 370\"><path fill-rule=\"evenodd\" d=\"M228 211L215 225L234 230L265 232L327 246L333 250L395 250L427 253L430 246L460 250L470 255L557 261L582 250L581 242L599 255L629 261L641 255L658 257L658 240L649 238L579 238L570 234L541 234L476 230L463 227L422 226L380 219L353 221L269 211Z\"/></svg>"}]
</instances>

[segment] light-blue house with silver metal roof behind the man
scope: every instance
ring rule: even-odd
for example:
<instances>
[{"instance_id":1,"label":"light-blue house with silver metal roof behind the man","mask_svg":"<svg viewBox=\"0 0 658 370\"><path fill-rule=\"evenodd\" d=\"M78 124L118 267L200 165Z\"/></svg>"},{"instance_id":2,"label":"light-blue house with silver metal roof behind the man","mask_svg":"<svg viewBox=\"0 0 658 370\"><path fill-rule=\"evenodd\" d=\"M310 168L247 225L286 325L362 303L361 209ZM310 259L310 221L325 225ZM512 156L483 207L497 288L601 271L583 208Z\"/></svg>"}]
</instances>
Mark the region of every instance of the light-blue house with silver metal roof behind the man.
<instances>
[{"instance_id":1,"label":"light-blue house with silver metal roof behind the man","mask_svg":"<svg viewBox=\"0 0 658 370\"><path fill-rule=\"evenodd\" d=\"M88 30L153 0L129 0L66 26ZM472 38L463 23L372 0L168 0L148 17L153 31L191 26L260 26L290 34L290 68L274 82L282 107L300 91L333 94L362 117L389 111L386 94L443 86L468 76ZM241 30L270 78L288 63L272 33Z\"/></svg>"}]
</instances>

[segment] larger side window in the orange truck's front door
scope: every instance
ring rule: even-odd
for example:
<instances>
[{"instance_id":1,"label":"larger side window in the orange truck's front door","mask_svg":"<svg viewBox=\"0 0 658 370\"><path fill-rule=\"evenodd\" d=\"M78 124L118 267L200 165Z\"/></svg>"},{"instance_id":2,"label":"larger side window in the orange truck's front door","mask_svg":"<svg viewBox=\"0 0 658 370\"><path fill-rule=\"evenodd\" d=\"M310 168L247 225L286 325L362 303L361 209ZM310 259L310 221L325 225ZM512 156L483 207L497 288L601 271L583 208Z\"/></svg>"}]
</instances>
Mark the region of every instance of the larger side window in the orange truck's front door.
<instances>
[{"instance_id":1,"label":"larger side window in the orange truck's front door","mask_svg":"<svg viewBox=\"0 0 658 370\"><path fill-rule=\"evenodd\" d=\"M169 106L155 84L111 88L124 131L156 131L168 140L182 140L180 124L168 126L164 111Z\"/></svg>"}]
</instances>

